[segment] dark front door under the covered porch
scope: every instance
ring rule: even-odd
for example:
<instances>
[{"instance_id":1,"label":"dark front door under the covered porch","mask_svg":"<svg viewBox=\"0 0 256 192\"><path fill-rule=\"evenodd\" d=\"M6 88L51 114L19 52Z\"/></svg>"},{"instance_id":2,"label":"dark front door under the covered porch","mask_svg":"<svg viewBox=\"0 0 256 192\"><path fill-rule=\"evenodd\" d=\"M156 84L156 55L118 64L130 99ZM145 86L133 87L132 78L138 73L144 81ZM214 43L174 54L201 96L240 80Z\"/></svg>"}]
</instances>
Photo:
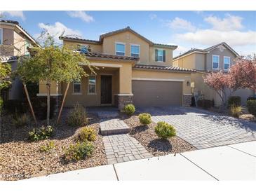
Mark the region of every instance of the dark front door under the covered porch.
<instances>
[{"instance_id":1,"label":"dark front door under the covered porch","mask_svg":"<svg viewBox=\"0 0 256 192\"><path fill-rule=\"evenodd\" d=\"M112 104L112 76L102 75L100 86L101 104Z\"/></svg>"}]
</instances>

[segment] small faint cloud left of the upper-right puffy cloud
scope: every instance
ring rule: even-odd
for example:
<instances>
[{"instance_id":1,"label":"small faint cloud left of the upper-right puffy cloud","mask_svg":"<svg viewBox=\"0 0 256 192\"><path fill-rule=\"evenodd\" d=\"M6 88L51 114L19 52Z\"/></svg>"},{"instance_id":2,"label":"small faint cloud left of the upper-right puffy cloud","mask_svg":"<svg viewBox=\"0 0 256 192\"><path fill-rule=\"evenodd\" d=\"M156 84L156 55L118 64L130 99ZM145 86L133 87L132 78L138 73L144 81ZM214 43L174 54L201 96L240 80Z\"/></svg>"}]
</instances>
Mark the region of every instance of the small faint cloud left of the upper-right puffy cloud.
<instances>
[{"instance_id":1,"label":"small faint cloud left of the upper-right puffy cloud","mask_svg":"<svg viewBox=\"0 0 256 192\"><path fill-rule=\"evenodd\" d=\"M194 31L196 27L191 22L182 18L175 18L174 20L167 22L168 27L172 29L185 29L187 31Z\"/></svg>"}]
</instances>

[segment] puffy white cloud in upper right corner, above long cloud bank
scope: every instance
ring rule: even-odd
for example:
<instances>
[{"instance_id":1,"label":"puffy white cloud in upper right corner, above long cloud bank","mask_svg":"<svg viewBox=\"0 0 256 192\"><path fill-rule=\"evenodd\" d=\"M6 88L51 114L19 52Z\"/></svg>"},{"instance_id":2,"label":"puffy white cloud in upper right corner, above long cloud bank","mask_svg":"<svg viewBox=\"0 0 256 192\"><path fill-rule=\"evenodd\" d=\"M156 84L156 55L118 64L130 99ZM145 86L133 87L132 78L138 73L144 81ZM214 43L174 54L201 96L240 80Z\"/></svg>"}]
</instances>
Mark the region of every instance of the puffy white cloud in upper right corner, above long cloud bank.
<instances>
[{"instance_id":1,"label":"puffy white cloud in upper right corner, above long cloud bank","mask_svg":"<svg viewBox=\"0 0 256 192\"><path fill-rule=\"evenodd\" d=\"M209 16L204 19L210 25L213 26L213 29L218 31L232 31L243 29L242 20L243 18L239 16L234 16L230 14L226 14L225 18L217 18L215 16Z\"/></svg>"}]
</instances>

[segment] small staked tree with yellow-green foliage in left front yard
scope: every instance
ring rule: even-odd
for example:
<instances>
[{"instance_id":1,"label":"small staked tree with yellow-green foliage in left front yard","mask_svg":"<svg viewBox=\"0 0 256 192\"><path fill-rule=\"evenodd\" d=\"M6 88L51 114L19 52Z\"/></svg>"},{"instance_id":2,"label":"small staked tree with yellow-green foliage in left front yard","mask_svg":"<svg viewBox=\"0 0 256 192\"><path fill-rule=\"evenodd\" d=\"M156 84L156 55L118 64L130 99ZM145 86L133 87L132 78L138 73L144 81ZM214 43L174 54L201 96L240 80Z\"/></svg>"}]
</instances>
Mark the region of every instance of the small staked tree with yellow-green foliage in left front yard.
<instances>
[{"instance_id":1,"label":"small staked tree with yellow-green foliage in left front yard","mask_svg":"<svg viewBox=\"0 0 256 192\"><path fill-rule=\"evenodd\" d=\"M86 72L81 63L89 67L88 60L84 55L69 50L65 47L55 46L53 37L49 34L43 42L43 48L32 48L32 57L24 57L18 66L18 75L22 81L46 82L47 89L47 125L50 124L50 84L51 82L66 82L67 88L62 100L62 107L65 102L69 83L79 81L81 76L86 76ZM60 109L60 114L62 111ZM60 118L60 114L58 119Z\"/></svg>"}]
</instances>

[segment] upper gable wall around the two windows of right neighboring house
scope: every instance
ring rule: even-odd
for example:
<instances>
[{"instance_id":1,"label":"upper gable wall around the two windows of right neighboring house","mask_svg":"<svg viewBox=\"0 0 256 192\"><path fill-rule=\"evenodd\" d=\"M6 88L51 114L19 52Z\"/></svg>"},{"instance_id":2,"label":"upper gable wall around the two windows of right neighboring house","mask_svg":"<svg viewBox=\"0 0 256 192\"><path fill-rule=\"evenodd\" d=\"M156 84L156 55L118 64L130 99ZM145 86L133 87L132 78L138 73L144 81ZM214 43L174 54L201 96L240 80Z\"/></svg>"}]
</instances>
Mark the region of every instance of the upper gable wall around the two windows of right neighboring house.
<instances>
[{"instance_id":1,"label":"upper gable wall around the two windows of right neighboring house","mask_svg":"<svg viewBox=\"0 0 256 192\"><path fill-rule=\"evenodd\" d=\"M230 63L234 64L234 59L236 55L232 53L229 49L224 49L223 51L220 51L220 48L215 48L214 50L211 50L210 53L206 55L206 69L211 70L213 65L213 55L219 55L220 56L220 69L224 69L224 56L230 57Z\"/></svg>"}]
</instances>

